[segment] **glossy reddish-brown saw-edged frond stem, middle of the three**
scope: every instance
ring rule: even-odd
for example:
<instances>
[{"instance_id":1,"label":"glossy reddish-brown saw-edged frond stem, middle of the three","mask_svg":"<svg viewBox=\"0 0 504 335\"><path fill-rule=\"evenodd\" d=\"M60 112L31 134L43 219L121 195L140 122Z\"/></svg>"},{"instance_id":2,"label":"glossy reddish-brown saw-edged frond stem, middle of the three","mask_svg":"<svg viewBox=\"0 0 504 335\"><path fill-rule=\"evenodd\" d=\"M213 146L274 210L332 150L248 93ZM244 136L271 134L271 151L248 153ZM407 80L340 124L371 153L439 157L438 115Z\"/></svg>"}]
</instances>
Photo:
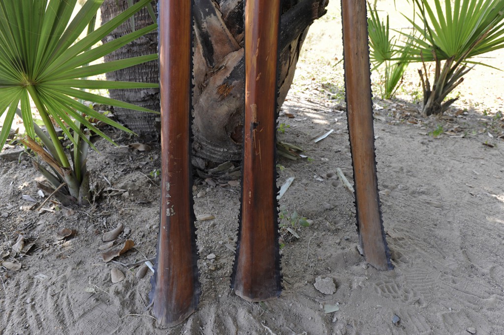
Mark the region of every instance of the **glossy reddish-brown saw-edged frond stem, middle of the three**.
<instances>
[{"instance_id":1,"label":"glossy reddish-brown saw-edged frond stem, middle of the three","mask_svg":"<svg viewBox=\"0 0 504 335\"><path fill-rule=\"evenodd\" d=\"M242 200L231 285L249 301L281 293L275 169L279 21L278 0L247 0Z\"/></svg>"}]
</instances>

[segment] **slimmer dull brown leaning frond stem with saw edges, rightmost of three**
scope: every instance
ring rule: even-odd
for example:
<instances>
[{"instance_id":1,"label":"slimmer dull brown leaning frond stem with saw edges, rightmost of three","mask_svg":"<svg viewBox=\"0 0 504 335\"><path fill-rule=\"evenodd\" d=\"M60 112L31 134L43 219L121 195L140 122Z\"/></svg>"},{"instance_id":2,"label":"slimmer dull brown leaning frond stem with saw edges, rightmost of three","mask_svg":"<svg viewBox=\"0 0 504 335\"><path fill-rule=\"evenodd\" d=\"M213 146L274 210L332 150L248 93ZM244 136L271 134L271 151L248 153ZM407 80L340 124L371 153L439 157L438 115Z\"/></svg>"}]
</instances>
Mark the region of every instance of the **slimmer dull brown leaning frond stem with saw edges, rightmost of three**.
<instances>
[{"instance_id":1,"label":"slimmer dull brown leaning frond stem with saw edges, rightmost of three","mask_svg":"<svg viewBox=\"0 0 504 335\"><path fill-rule=\"evenodd\" d=\"M348 131L360 247L370 265L388 270L393 266L385 240L376 179L366 2L342 0L341 9Z\"/></svg>"}]
</instances>

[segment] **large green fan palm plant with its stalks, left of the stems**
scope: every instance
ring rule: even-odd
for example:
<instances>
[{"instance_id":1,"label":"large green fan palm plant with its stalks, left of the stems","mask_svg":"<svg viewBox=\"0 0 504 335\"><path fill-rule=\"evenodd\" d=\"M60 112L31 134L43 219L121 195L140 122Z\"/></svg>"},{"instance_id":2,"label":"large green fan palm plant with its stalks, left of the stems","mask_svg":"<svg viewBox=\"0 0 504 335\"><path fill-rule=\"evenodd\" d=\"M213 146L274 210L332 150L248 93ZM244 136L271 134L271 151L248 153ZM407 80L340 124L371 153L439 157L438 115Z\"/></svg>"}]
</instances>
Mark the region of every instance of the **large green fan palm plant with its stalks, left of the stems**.
<instances>
[{"instance_id":1,"label":"large green fan palm plant with its stalks, left of the stems","mask_svg":"<svg viewBox=\"0 0 504 335\"><path fill-rule=\"evenodd\" d=\"M121 124L86 106L83 102L112 105L154 112L129 103L86 92L87 89L152 88L157 84L107 82L88 80L87 77L124 69L157 58L157 54L133 57L108 63L88 65L117 48L157 28L152 24L141 30L96 46L106 35L148 5L151 0L140 0L114 19L94 30L96 13L103 0L88 0L72 19L77 0L0 0L0 116L6 115L0 131L0 150L3 148L14 115L20 114L26 128L28 147L50 166L40 168L54 188L66 183L68 198L83 203L86 187L86 154L94 148L89 134L96 133L112 140L91 121L97 119L118 129L131 132ZM80 39L88 27L88 34ZM42 118L45 132L33 122L30 99ZM73 144L73 166L61 144L54 124L62 129ZM45 149L37 144L39 136ZM112 142L113 143L113 142ZM41 167L36 163L36 166Z\"/></svg>"}]
</instances>

